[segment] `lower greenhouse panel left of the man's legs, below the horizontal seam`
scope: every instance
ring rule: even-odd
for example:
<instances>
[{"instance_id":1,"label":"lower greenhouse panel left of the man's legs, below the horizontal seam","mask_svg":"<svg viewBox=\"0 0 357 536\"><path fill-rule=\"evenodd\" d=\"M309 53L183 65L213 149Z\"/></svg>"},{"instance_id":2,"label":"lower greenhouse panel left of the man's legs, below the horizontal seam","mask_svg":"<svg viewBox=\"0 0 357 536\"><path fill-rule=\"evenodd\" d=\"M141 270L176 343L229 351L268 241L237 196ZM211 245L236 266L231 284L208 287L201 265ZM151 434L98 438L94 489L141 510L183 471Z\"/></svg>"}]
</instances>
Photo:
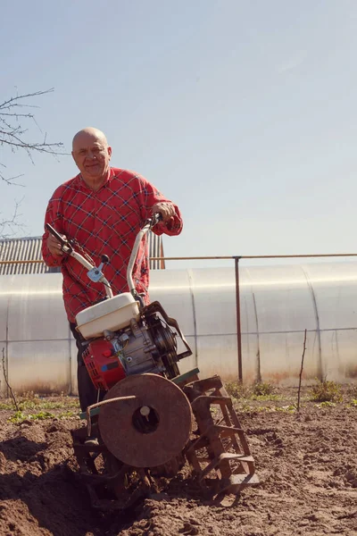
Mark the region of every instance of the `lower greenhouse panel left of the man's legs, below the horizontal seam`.
<instances>
[{"instance_id":1,"label":"lower greenhouse panel left of the man's legs, below the horizontal seam","mask_svg":"<svg viewBox=\"0 0 357 536\"><path fill-rule=\"evenodd\" d=\"M31 276L32 277L32 276ZM12 389L69 392L68 340L9 342L9 381Z\"/></svg>"}]
</instances>

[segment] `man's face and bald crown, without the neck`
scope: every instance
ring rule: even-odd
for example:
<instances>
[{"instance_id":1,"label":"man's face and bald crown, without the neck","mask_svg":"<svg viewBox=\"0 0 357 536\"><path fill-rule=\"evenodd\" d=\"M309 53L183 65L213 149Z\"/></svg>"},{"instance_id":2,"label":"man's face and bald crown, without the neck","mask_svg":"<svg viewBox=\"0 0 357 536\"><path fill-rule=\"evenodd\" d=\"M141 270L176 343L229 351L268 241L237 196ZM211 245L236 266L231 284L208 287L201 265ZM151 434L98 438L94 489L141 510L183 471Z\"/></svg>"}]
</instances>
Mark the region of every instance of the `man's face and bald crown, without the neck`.
<instances>
[{"instance_id":1,"label":"man's face and bald crown, without the neck","mask_svg":"<svg viewBox=\"0 0 357 536\"><path fill-rule=\"evenodd\" d=\"M104 178L109 169L112 147L95 134L81 133L73 141L72 156L84 180Z\"/></svg>"}]
</instances>

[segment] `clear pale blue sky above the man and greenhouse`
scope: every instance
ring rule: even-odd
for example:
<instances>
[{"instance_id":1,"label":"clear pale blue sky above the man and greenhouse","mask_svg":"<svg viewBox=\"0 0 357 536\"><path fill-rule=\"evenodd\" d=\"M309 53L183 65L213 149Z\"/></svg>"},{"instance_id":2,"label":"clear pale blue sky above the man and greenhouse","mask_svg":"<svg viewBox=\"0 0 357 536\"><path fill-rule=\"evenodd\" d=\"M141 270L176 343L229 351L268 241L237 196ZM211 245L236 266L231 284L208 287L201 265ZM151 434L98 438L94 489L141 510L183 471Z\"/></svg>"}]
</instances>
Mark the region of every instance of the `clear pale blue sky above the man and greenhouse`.
<instances>
[{"instance_id":1,"label":"clear pale blue sky above the man and greenhouse","mask_svg":"<svg viewBox=\"0 0 357 536\"><path fill-rule=\"evenodd\" d=\"M166 255L357 251L356 30L355 0L4 2L0 99L54 87L37 122L68 151L104 130L181 208ZM3 216L24 196L41 234L71 156L0 162L26 185L0 185Z\"/></svg>"}]
</instances>

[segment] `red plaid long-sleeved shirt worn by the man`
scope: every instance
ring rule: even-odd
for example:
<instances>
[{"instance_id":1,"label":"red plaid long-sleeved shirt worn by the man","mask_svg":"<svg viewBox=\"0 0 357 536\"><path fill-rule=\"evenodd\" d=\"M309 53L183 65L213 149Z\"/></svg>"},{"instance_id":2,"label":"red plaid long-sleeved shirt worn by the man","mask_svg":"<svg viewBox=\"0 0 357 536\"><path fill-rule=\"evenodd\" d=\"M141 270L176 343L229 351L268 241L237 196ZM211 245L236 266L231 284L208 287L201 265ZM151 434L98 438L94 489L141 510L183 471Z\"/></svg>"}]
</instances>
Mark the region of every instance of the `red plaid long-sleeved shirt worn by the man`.
<instances>
[{"instance_id":1,"label":"red plaid long-sleeved shirt worn by the man","mask_svg":"<svg viewBox=\"0 0 357 536\"><path fill-rule=\"evenodd\" d=\"M116 295L129 290L126 270L137 232L151 216L153 205L160 201L168 199L144 177L111 168L108 180L97 191L88 188L80 174L57 188L48 203L45 222L68 239L76 239L96 265L100 264L101 255L109 256L110 263L104 265L104 275ZM173 222L159 222L154 227L157 235L181 232L179 208L174 206ZM51 255L47 237L48 231L43 235L42 255L48 266L61 264L64 306L69 321L75 322L79 311L105 297L104 285L90 281L86 268L73 257ZM137 291L145 294L148 303L149 264L145 239L137 254L133 279Z\"/></svg>"}]
</instances>

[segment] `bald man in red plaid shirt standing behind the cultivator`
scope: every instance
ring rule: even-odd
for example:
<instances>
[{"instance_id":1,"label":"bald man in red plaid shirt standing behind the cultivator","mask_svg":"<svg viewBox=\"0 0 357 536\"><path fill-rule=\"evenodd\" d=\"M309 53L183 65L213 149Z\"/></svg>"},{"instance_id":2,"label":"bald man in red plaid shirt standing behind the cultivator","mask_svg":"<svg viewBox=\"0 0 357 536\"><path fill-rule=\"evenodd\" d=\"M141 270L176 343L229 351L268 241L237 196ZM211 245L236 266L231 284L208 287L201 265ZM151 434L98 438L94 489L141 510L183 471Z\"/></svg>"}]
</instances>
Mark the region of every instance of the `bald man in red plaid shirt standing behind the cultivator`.
<instances>
[{"instance_id":1,"label":"bald man in red plaid shirt standing behind the cultivator","mask_svg":"<svg viewBox=\"0 0 357 536\"><path fill-rule=\"evenodd\" d=\"M126 270L137 232L145 219L162 214L162 222L154 227L158 235L178 235L182 230L179 208L134 172L111 168L112 147L104 133L94 128L79 130L72 142L72 156L79 175L64 182L54 191L45 223L50 223L64 238L75 239L100 264L101 255L110 263L104 267L113 294L128 291ZM105 297L102 283L88 279L86 269L73 257L64 255L61 245L46 230L42 255L48 266L61 265L63 300L71 332L77 342L79 403L82 411L96 401L96 391L82 360L82 338L76 331L75 317L79 311ZM149 266L145 243L137 255L133 280L137 292L148 303Z\"/></svg>"}]
</instances>

